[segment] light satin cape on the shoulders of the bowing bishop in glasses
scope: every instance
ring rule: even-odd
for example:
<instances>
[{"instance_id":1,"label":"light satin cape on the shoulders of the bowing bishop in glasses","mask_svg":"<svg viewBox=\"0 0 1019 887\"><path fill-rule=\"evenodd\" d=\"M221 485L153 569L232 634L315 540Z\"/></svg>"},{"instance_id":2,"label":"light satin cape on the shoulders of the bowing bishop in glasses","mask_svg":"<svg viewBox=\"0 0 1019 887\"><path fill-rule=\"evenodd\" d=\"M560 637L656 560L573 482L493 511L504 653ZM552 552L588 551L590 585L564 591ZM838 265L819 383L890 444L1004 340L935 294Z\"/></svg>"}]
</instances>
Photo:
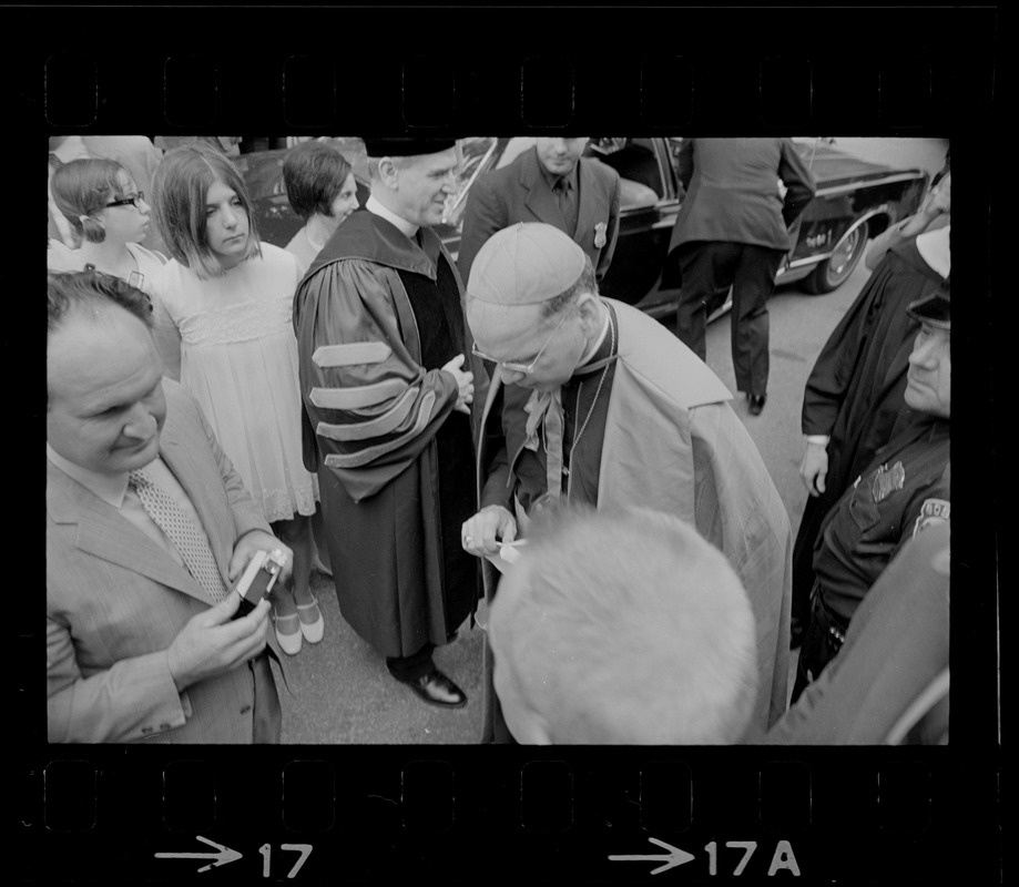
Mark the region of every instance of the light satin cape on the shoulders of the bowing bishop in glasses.
<instances>
[{"instance_id":1,"label":"light satin cape on the shoulders of the bowing bishop in glasses","mask_svg":"<svg viewBox=\"0 0 1019 887\"><path fill-rule=\"evenodd\" d=\"M788 514L754 441L730 407L732 395L722 381L661 324L629 305L603 300L613 307L619 323L619 356L605 419L598 507L633 506L675 514L727 557L756 621L758 687L751 731L763 733L786 708ZM496 374L481 420L479 498L480 491L496 486L487 481L501 441L501 417L491 415L492 404L501 401L500 385ZM501 504L514 510L511 488ZM497 582L498 573L486 562L489 599ZM490 672L488 649L485 662ZM491 742L502 727L490 673L485 686L482 742Z\"/></svg>"}]
</instances>

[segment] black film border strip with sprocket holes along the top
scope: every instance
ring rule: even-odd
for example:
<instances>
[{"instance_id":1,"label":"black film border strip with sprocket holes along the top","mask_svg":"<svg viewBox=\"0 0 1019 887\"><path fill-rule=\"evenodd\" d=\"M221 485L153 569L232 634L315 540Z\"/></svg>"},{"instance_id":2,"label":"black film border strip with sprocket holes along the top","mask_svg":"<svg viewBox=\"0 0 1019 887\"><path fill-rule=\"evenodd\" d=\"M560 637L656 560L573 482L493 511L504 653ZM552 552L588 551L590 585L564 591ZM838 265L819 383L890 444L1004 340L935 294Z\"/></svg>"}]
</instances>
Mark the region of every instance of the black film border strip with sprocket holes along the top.
<instances>
[{"instance_id":1,"label":"black film border strip with sprocket holes along the top","mask_svg":"<svg viewBox=\"0 0 1019 887\"><path fill-rule=\"evenodd\" d=\"M246 8L47 21L59 131L920 134L989 119L996 10ZM108 22L120 21L106 14ZM78 30L75 31L75 26ZM241 34L248 35L247 39ZM110 42L112 45L106 45ZM115 47L115 49L114 49ZM22 73L23 77L23 73ZM337 129L339 128L339 129ZM130 130L140 131L137 126Z\"/></svg>"}]
</instances>

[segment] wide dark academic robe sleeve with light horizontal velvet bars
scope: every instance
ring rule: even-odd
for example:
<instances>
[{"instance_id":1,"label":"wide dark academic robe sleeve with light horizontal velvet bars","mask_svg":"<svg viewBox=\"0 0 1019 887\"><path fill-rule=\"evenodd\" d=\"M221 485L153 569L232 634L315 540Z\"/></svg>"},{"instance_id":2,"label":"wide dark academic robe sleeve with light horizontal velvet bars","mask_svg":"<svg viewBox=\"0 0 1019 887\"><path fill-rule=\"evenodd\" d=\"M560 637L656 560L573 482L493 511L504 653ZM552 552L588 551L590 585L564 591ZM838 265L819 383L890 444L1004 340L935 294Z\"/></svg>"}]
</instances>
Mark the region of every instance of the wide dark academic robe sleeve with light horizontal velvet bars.
<instances>
[{"instance_id":1,"label":"wide dark academic robe sleeve with light horizontal velvet bars","mask_svg":"<svg viewBox=\"0 0 1019 887\"><path fill-rule=\"evenodd\" d=\"M310 452L306 442L306 461L320 458L359 501L434 439L456 406L456 378L420 365L419 330L399 275L371 262L342 259L306 277L294 332L305 434L316 443Z\"/></svg>"}]
</instances>

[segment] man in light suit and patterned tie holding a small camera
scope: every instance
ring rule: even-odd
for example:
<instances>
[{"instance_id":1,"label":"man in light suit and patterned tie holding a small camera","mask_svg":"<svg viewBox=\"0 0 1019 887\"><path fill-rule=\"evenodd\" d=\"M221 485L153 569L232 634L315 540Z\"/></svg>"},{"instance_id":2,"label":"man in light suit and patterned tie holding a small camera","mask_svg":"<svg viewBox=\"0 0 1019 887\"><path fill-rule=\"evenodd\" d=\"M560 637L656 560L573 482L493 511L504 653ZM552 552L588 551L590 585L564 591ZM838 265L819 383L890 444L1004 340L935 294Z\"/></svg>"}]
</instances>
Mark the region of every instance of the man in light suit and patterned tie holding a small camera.
<instances>
[{"instance_id":1,"label":"man in light suit and patterned tie holding a small camera","mask_svg":"<svg viewBox=\"0 0 1019 887\"><path fill-rule=\"evenodd\" d=\"M230 584L289 550L162 377L147 298L86 272L48 303L49 741L278 742L269 605L233 619Z\"/></svg>"}]
</instances>

